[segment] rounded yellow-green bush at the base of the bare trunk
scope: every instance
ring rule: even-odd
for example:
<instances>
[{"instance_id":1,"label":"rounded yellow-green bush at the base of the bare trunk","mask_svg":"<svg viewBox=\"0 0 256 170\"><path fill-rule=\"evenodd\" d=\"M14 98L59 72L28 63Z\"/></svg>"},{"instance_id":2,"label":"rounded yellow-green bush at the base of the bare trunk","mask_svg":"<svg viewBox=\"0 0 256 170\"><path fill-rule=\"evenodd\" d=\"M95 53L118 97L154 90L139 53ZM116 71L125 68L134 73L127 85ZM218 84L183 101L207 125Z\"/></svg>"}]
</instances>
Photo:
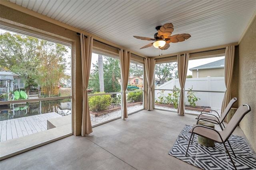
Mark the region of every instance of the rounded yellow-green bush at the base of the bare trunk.
<instances>
[{"instance_id":1,"label":"rounded yellow-green bush at the base of the bare trunk","mask_svg":"<svg viewBox=\"0 0 256 170\"><path fill-rule=\"evenodd\" d=\"M96 92L94 94L99 94L99 93L102 93L102 92ZM94 112L106 110L111 103L110 95L91 96L91 97L88 97L88 99L89 99L89 108L91 111L94 111Z\"/></svg>"}]
</instances>

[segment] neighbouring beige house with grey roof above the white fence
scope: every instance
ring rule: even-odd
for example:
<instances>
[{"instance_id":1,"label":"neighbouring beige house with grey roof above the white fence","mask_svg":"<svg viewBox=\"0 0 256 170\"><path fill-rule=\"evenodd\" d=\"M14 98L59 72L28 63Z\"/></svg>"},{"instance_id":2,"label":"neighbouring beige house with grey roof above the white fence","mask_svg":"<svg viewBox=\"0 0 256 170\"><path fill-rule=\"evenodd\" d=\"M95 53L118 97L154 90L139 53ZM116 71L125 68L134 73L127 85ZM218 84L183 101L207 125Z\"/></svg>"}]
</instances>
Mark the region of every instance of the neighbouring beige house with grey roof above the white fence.
<instances>
[{"instance_id":1,"label":"neighbouring beige house with grey roof above the white fence","mask_svg":"<svg viewBox=\"0 0 256 170\"><path fill-rule=\"evenodd\" d=\"M220 59L211 63L204 65L199 65L189 69L192 71L192 78L201 77L224 77L224 61L225 59Z\"/></svg>"}]
</instances>

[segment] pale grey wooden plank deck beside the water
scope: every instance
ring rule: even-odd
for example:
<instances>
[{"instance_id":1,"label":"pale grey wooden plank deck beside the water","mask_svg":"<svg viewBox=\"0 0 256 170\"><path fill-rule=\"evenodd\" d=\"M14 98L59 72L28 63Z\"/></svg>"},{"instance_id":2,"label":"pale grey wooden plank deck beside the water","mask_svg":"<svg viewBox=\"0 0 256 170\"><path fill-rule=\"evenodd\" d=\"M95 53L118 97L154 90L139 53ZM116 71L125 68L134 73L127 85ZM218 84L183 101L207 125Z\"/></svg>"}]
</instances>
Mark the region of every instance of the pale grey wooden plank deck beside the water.
<instances>
[{"instance_id":1,"label":"pale grey wooden plank deck beside the water","mask_svg":"<svg viewBox=\"0 0 256 170\"><path fill-rule=\"evenodd\" d=\"M0 121L0 142L47 130L47 119L62 117L58 113L44 113Z\"/></svg>"}]
</instances>

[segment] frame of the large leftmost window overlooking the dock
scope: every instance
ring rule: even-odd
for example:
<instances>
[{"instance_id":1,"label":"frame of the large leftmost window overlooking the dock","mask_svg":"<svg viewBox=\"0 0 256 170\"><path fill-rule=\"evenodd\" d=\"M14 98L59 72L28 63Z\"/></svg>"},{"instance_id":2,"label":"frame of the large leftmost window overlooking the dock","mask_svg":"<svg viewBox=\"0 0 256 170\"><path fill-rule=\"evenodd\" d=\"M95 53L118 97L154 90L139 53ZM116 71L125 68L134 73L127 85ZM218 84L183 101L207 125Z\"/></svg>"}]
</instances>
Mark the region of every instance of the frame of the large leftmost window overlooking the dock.
<instances>
[{"instance_id":1,"label":"frame of the large leftmost window overlooking the dock","mask_svg":"<svg viewBox=\"0 0 256 170\"><path fill-rule=\"evenodd\" d=\"M69 41L69 40L65 40L65 39L62 39L60 38L60 36L56 35L56 34L52 34L50 32L45 32L43 30L38 30L38 29L35 29L35 28L22 28L21 26L16 26L16 25L12 25L12 24L8 24L8 23L5 23L5 22L1 22L0 24L0 29L2 30L6 30L6 31L10 31L10 32L14 32L14 33L17 33L17 34L23 34L23 35L26 35L26 36L31 36L31 37L35 37L35 38L38 38L38 39L41 39L41 40L46 40L46 41L50 41L50 42L53 42L53 43L58 43L58 44L62 44L62 45L66 45L68 47L70 47L70 58L71 58L71 70L70 70L70 76L71 76L71 82L72 82L72 85L71 85L71 93L70 93L70 96L64 96L64 97L46 97L46 98L38 98L38 99L22 99L22 100L16 100L16 101L0 101L0 105L9 105L9 104L14 104L14 103L23 103L23 102L34 102L34 101L53 101L53 100L60 100L60 99L71 99L71 124L70 124L70 131L69 132L65 132L63 134L58 134L58 135L50 135L49 133L49 137L45 137L43 140L40 140L40 142L38 143L34 143L34 144L25 144L25 145L19 145L18 147L11 147L8 149L8 153L5 153L4 156L1 154L1 158L8 158L10 156L14 156L16 154L19 154L19 153L22 153L22 152L25 152L27 150L31 150L33 148L36 148L36 147L39 147L39 146L42 146L44 144L48 144L50 142L54 142L56 140L60 140L62 138L65 138L67 136L71 136L74 134L74 123L73 123L73 119L74 119L74 112L76 112L76 109L72 109L73 106L74 106L74 103L73 103L73 88L74 88L74 84L73 84L73 76L74 76L74 71L73 71L73 65L74 65L74 56L75 56L75 53L74 53L74 42L75 41ZM32 30L32 29L35 29L36 31ZM57 130L57 129L56 129ZM47 130L45 130L47 131ZM45 133L45 132L43 132ZM35 134L38 134L38 133L35 133ZM57 133L56 133L57 134ZM28 137L29 135L27 136L24 136L23 140L25 140L25 138L30 138ZM18 140L19 138L17 138ZM16 140L15 140L16 141ZM11 142L11 141L10 141ZM14 142L14 140L12 140L12 142ZM36 141L35 141L36 142ZM7 144L7 148L8 148L8 142L6 142ZM4 145L3 145L4 146ZM24 148L25 147L25 148Z\"/></svg>"}]
</instances>

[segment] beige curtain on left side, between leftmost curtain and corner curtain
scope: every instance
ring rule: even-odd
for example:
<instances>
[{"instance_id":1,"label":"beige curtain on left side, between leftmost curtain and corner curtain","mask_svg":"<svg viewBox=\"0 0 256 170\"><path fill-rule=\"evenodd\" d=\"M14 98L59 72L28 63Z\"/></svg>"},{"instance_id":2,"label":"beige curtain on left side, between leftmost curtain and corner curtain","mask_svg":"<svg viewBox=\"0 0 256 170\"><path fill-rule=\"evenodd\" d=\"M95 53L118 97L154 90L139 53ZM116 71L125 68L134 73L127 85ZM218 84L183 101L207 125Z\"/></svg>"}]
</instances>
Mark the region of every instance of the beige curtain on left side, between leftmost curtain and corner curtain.
<instances>
[{"instance_id":1,"label":"beige curtain on left side, between leftmost curtain and corner curtain","mask_svg":"<svg viewBox=\"0 0 256 170\"><path fill-rule=\"evenodd\" d=\"M120 70L121 70L121 93L122 93L122 102L121 102L121 114L122 119L128 118L127 103L126 103L126 88L129 79L129 70L130 70L130 51L126 49L119 49L119 60L120 60Z\"/></svg>"}]
</instances>

